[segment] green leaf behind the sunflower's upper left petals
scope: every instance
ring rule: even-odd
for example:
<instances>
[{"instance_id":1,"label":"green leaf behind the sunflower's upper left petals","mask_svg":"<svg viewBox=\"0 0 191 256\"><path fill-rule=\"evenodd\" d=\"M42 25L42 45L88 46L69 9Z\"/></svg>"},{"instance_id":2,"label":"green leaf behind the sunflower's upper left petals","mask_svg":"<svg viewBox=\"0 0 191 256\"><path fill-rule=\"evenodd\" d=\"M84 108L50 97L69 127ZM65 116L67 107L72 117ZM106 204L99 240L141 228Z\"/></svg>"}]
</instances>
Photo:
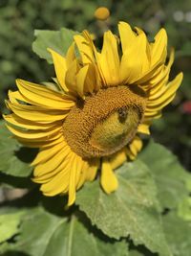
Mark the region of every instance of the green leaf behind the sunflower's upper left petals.
<instances>
[{"instance_id":1,"label":"green leaf behind the sunflower's upper left petals","mask_svg":"<svg viewBox=\"0 0 191 256\"><path fill-rule=\"evenodd\" d=\"M58 54L65 56L76 34L78 33L66 28L62 28L59 31L35 30L36 39L32 43L32 50L40 58L45 58L49 63L53 63L47 48L51 48Z\"/></svg>"}]
</instances>

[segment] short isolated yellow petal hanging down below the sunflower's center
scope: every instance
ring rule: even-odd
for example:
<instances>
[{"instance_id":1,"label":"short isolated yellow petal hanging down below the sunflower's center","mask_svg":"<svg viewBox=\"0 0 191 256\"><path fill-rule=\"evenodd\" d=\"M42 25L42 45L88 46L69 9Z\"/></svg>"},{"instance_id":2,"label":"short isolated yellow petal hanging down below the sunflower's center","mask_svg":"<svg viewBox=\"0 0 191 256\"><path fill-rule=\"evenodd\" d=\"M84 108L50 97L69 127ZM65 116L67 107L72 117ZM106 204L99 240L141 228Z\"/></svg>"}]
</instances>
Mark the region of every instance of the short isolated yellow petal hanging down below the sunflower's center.
<instances>
[{"instance_id":1,"label":"short isolated yellow petal hanging down below the sunflower's center","mask_svg":"<svg viewBox=\"0 0 191 256\"><path fill-rule=\"evenodd\" d=\"M103 190L107 194L110 194L116 191L118 187L117 176L114 174L111 164L106 159L103 159L103 163L101 167L100 183Z\"/></svg>"}]
</instances>

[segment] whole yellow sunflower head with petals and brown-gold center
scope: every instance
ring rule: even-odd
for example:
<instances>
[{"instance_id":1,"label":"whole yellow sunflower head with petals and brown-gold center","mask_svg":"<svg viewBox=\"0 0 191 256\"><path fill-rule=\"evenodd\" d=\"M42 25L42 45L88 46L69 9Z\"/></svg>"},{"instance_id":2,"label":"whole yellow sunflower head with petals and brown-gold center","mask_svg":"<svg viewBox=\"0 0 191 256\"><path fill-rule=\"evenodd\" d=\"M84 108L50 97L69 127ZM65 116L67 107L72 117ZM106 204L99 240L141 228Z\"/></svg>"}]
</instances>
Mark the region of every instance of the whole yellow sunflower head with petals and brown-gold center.
<instances>
[{"instance_id":1,"label":"whole yellow sunflower head with petals and brown-gold center","mask_svg":"<svg viewBox=\"0 0 191 256\"><path fill-rule=\"evenodd\" d=\"M117 190L114 170L133 160L153 119L175 97L182 74L168 81L174 61L167 58L161 29L149 42L139 28L118 24L107 31L101 51L87 31L74 35L65 57L48 49L56 79L50 86L17 80L9 92L7 126L24 145L39 148L32 162L33 181L45 196L68 194L96 178L110 194Z\"/></svg>"}]
</instances>

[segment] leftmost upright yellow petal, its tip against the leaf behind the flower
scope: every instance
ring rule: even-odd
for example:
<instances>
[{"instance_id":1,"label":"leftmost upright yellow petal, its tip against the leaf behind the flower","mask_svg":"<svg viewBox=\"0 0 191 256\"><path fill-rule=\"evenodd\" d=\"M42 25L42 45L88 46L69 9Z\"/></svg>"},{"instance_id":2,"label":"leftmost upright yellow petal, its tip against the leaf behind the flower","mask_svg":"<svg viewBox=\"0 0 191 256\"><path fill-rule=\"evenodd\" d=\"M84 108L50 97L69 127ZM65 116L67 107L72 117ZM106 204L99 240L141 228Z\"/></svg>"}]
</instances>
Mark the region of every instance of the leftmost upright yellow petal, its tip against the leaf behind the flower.
<instances>
[{"instance_id":1,"label":"leftmost upright yellow petal, its tip against the leaf behind the flower","mask_svg":"<svg viewBox=\"0 0 191 256\"><path fill-rule=\"evenodd\" d=\"M65 75L67 71L66 58L62 57L61 55L54 52L50 48L48 48L47 50L52 55L55 74L56 74L57 81L59 82L59 85L64 91L68 91L68 88L66 87L66 84L65 84Z\"/></svg>"}]
</instances>

